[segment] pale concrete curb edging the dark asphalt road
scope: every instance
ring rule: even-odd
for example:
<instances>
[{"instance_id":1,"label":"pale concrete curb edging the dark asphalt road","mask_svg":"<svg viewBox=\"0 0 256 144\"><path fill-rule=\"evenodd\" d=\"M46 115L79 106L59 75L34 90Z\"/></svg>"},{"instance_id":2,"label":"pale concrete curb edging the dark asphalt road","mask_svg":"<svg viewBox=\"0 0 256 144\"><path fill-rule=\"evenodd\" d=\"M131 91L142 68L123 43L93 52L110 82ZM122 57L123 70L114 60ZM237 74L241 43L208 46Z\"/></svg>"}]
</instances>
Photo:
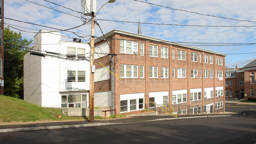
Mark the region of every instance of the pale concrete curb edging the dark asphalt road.
<instances>
[{"instance_id":1,"label":"pale concrete curb edging the dark asphalt road","mask_svg":"<svg viewBox=\"0 0 256 144\"><path fill-rule=\"evenodd\" d=\"M175 117L175 118L155 119L155 120L140 121L140 122L165 121L165 120L174 120L174 119L193 119L193 118L202 118L202 117L229 117L229 116L245 116L245 113L243 113L243 115L202 115L202 116L192 116L192 117ZM89 126L105 126L105 125L129 124L129 123L138 123L138 122L94 123L94 124L75 124L75 125L64 125L64 126L41 126L41 127L31 127L31 128L12 128L12 129L2 129L2 130L0 130L0 133L15 132L15 131L51 130L51 129L59 129L59 128L81 128L81 127L89 127Z\"/></svg>"}]
</instances>

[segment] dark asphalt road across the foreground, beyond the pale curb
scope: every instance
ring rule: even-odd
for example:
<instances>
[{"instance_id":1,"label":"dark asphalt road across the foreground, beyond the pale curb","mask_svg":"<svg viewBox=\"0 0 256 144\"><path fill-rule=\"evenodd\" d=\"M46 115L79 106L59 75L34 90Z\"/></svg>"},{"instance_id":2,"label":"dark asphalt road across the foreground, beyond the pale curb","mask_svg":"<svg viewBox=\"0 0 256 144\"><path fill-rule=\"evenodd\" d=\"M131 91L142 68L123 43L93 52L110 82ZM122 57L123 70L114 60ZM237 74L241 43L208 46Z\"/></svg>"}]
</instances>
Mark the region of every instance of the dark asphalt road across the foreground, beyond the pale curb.
<instances>
[{"instance_id":1,"label":"dark asphalt road across the foreground, beyond the pale curb","mask_svg":"<svg viewBox=\"0 0 256 144\"><path fill-rule=\"evenodd\" d=\"M246 115L0 133L0 143L256 144L256 106L226 104L227 112Z\"/></svg>"}]
</instances>

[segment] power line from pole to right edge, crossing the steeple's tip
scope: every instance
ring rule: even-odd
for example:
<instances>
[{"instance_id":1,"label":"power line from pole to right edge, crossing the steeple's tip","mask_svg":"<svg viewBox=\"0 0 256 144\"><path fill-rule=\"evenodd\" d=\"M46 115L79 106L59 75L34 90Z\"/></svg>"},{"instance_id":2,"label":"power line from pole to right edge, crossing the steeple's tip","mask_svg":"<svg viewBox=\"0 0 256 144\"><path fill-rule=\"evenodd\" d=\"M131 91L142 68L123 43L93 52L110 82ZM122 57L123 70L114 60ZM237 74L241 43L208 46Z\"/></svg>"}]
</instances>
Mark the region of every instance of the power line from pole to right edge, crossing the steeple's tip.
<instances>
[{"instance_id":1,"label":"power line from pole to right edge, crossing the steeple's tip","mask_svg":"<svg viewBox=\"0 0 256 144\"><path fill-rule=\"evenodd\" d=\"M128 21L119 21L119 20L104 20L97 19L101 21L109 21L109 22L123 22L123 23L139 23L139 22L128 22ZM191 27L256 27L256 25L178 25L178 24L165 24L165 23L144 23L141 24L151 24L151 25L173 25L173 26L191 26Z\"/></svg>"}]
</instances>

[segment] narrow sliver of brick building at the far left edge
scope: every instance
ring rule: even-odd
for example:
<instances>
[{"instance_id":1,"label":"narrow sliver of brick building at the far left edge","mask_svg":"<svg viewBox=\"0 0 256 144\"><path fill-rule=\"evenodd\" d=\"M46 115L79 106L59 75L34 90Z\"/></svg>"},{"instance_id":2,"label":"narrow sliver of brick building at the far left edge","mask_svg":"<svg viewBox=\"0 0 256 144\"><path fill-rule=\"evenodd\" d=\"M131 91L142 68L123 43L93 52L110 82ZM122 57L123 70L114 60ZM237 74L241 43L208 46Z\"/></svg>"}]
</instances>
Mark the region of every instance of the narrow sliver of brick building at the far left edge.
<instances>
[{"instance_id":1,"label":"narrow sliver of brick building at the far left edge","mask_svg":"<svg viewBox=\"0 0 256 144\"><path fill-rule=\"evenodd\" d=\"M0 16L4 17L4 0L0 0ZM0 95L4 95L4 18L0 17Z\"/></svg>"}]
</instances>

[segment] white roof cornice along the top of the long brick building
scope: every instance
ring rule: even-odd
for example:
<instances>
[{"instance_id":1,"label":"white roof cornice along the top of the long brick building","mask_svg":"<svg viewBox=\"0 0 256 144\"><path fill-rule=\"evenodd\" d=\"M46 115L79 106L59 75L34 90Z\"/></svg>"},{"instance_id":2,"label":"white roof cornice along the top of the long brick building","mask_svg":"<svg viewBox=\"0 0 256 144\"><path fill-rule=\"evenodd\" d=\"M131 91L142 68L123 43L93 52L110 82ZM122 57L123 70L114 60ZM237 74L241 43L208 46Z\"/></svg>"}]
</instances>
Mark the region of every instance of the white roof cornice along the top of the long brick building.
<instances>
[{"instance_id":1,"label":"white roof cornice along the top of the long brick building","mask_svg":"<svg viewBox=\"0 0 256 144\"><path fill-rule=\"evenodd\" d=\"M200 50L200 51L204 51L204 52L218 54L218 55L221 55L221 56L227 56L226 54L219 53L219 52L214 52L214 51L211 51L211 50L201 49L201 48L198 48L198 47L192 47L192 46L189 46L189 45L184 45L184 44L181 44L181 43L175 43L175 42L172 42L172 41L162 40L162 39L159 39L159 38L154 38L154 37L151 37L151 36L145 36L145 35L142 35L142 34L136 34L136 33L133 33L133 32L121 31L121 30L118 30L118 29L113 29L112 31L107 32L106 34L104 34L104 36L102 35L102 36L96 38L94 42L98 43L99 41L102 41L102 38L109 38L110 36L113 36L114 34L120 34L120 35L123 35L123 36L130 36L130 37L139 38L139 39L143 39L143 40L156 41L156 42L159 42L159 43L165 43L165 44L169 44L169 45L186 47L186 48L189 48L189 49ZM89 44L91 44L91 42L89 42Z\"/></svg>"}]
</instances>

